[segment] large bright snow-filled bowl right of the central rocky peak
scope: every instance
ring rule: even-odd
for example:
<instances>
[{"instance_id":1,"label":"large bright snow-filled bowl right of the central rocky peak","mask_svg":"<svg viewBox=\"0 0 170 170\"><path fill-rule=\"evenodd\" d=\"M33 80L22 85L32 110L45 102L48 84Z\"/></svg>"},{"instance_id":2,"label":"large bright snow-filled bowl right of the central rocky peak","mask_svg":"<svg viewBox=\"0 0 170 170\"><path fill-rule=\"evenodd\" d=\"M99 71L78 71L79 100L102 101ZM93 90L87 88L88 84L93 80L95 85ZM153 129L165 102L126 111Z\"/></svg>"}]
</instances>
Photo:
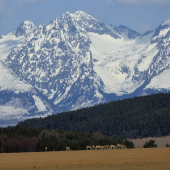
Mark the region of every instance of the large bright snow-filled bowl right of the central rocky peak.
<instances>
[{"instance_id":1,"label":"large bright snow-filled bowl right of the central rocky peak","mask_svg":"<svg viewBox=\"0 0 170 170\"><path fill-rule=\"evenodd\" d=\"M94 71L99 75L105 84L106 93L116 93L122 95L124 93L132 93L144 81L134 82L133 73L136 66L140 71L144 71L152 59L143 59L142 56L150 53L157 53L151 45L146 48L148 41L145 39L114 39L110 35L99 35L97 33L88 33L91 44L90 51L92 52ZM154 56L152 55L152 57ZM138 61L141 62L138 63Z\"/></svg>"}]
</instances>

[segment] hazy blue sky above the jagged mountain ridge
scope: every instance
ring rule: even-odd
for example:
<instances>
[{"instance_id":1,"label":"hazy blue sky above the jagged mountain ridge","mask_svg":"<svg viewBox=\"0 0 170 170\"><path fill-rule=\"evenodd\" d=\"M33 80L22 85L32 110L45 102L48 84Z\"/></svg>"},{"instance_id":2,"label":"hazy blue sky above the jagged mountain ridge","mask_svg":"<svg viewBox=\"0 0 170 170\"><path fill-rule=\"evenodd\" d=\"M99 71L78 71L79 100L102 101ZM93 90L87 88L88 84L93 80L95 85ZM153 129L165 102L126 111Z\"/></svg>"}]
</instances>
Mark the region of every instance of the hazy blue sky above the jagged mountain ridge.
<instances>
[{"instance_id":1,"label":"hazy blue sky above the jagged mountain ridge","mask_svg":"<svg viewBox=\"0 0 170 170\"><path fill-rule=\"evenodd\" d=\"M144 33L170 19L170 0L0 0L0 34L13 32L25 20L48 25L66 11L79 10Z\"/></svg>"}]
</instances>

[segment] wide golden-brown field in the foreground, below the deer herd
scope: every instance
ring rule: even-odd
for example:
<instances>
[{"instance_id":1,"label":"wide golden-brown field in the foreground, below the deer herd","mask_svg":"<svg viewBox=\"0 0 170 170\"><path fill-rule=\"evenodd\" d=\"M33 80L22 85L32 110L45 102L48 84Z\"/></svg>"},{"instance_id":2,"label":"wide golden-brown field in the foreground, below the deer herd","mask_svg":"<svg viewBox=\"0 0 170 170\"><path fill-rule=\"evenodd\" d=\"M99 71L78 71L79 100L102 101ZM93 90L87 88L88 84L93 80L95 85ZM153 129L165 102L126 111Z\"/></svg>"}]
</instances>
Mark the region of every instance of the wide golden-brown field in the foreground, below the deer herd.
<instances>
[{"instance_id":1,"label":"wide golden-brown field in the foreground, below the deer herd","mask_svg":"<svg viewBox=\"0 0 170 170\"><path fill-rule=\"evenodd\" d=\"M5 170L167 170L170 148L2 153Z\"/></svg>"}]
</instances>

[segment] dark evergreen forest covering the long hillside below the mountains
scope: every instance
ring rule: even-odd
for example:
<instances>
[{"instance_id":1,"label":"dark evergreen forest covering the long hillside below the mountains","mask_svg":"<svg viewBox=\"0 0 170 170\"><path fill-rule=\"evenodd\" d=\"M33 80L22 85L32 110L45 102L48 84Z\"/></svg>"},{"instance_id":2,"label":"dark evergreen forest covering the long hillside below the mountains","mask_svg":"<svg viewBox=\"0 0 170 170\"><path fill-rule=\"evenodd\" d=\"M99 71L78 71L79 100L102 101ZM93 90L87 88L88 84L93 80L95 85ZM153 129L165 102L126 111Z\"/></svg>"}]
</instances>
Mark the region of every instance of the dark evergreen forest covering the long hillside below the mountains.
<instances>
[{"instance_id":1,"label":"dark evergreen forest covering the long hillside below the mountains","mask_svg":"<svg viewBox=\"0 0 170 170\"><path fill-rule=\"evenodd\" d=\"M170 93L134 97L25 120L18 126L87 133L100 131L105 137L121 139L164 136L170 133Z\"/></svg>"}]
</instances>

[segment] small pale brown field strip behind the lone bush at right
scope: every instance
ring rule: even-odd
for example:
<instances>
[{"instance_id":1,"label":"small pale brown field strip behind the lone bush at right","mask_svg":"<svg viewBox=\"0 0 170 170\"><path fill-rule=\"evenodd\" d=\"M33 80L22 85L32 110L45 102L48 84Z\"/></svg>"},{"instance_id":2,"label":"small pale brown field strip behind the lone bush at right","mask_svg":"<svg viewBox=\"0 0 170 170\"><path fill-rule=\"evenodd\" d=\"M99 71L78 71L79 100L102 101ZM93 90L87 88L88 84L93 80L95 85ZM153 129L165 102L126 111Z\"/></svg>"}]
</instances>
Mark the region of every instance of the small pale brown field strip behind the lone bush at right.
<instances>
[{"instance_id":1,"label":"small pale brown field strip behind the lone bush at right","mask_svg":"<svg viewBox=\"0 0 170 170\"><path fill-rule=\"evenodd\" d=\"M143 145L146 141L149 140L155 140L155 143L157 144L157 147L165 147L166 144L170 144L170 136L162 136L162 137L148 137L143 139L131 139L131 141L134 143L135 148L143 148Z\"/></svg>"}]
</instances>

